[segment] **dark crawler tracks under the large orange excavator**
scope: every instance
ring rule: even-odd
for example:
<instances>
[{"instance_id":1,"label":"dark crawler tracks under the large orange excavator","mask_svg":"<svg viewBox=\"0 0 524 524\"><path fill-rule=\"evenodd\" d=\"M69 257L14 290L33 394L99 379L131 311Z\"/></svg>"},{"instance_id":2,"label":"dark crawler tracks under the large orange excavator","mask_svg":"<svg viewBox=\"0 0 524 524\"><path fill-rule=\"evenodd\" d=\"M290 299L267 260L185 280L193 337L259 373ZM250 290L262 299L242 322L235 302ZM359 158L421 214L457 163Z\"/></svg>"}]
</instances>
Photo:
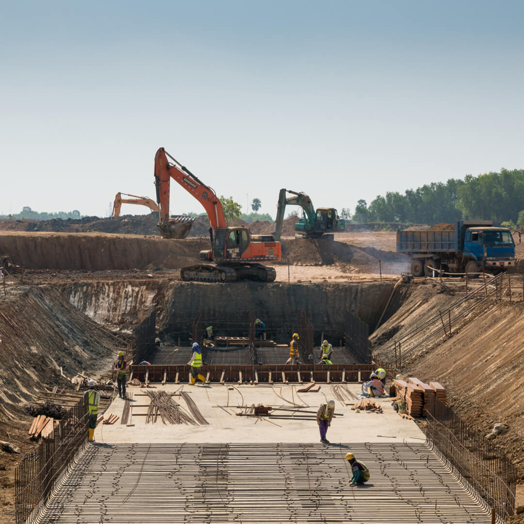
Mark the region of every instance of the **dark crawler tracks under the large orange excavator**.
<instances>
[{"instance_id":1,"label":"dark crawler tracks under the large orange excavator","mask_svg":"<svg viewBox=\"0 0 524 524\"><path fill-rule=\"evenodd\" d=\"M180 278L186 282L235 282L237 280L257 280L273 282L277 278L275 268L263 264L211 265L197 264L183 267Z\"/></svg>"}]
</instances>

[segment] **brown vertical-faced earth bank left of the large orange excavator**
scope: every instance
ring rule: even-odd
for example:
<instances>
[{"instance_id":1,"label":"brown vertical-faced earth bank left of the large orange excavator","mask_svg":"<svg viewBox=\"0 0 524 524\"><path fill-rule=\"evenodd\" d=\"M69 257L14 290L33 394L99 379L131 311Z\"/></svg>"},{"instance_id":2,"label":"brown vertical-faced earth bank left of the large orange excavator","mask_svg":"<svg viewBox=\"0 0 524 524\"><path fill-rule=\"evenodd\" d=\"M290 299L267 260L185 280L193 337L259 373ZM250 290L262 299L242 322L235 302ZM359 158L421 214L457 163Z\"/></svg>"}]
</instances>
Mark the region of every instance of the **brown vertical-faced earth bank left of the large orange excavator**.
<instances>
[{"instance_id":1,"label":"brown vertical-faced earth bank left of the large orange excavator","mask_svg":"<svg viewBox=\"0 0 524 524\"><path fill-rule=\"evenodd\" d=\"M209 242L103 233L0 234L0 253L27 269L176 269L198 260Z\"/></svg>"}]
</instances>

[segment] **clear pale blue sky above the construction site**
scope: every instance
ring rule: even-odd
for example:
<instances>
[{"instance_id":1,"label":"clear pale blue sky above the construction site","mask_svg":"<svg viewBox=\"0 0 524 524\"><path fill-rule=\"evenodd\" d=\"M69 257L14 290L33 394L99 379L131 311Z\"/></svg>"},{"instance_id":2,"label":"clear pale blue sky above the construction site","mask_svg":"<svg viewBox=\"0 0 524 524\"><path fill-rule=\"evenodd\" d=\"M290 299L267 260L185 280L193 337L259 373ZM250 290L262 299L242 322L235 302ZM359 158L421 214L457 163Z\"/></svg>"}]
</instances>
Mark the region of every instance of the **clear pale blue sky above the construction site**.
<instances>
[{"instance_id":1,"label":"clear pale blue sky above the construction site","mask_svg":"<svg viewBox=\"0 0 524 524\"><path fill-rule=\"evenodd\" d=\"M159 147L273 216L280 188L341 211L524 166L520 1L0 0L0 12L0 214L107 216L118 191L155 200ZM173 183L170 211L203 208Z\"/></svg>"}]
</instances>

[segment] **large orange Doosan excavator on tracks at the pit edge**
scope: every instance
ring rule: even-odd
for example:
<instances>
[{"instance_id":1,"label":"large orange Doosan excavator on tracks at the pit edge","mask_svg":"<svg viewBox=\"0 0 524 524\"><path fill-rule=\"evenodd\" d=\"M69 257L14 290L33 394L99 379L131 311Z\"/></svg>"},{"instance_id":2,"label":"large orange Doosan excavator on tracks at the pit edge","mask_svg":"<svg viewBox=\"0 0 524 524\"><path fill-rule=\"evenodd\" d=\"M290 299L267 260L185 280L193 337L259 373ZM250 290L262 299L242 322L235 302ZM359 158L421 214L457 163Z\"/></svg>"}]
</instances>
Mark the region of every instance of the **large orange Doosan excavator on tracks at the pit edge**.
<instances>
[{"instance_id":1,"label":"large orange Doosan excavator on tracks at the pit edge","mask_svg":"<svg viewBox=\"0 0 524 524\"><path fill-rule=\"evenodd\" d=\"M168 161L168 157L172 162ZM164 238L185 238L194 219L188 216L169 216L169 187L173 179L198 200L208 213L211 249L201 251L199 257L206 264L184 267L182 280L204 282L234 282L235 280L261 280L272 282L275 269L261 264L280 260L280 242L272 235L252 235L247 227L228 227L222 203L215 192L181 165L161 147L155 155L155 185L160 210L158 230ZM215 264L211 264L212 262Z\"/></svg>"}]
</instances>

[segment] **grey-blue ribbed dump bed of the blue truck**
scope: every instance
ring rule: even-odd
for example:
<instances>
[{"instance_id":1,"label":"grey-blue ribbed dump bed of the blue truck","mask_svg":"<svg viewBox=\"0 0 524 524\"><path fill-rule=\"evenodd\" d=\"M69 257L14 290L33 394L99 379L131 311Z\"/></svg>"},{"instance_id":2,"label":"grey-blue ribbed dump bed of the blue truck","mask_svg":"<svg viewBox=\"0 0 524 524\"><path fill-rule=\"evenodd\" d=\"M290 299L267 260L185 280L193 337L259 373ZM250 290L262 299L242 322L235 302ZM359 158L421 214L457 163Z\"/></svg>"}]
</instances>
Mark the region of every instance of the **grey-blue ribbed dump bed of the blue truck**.
<instances>
[{"instance_id":1,"label":"grey-blue ribbed dump bed of the blue truck","mask_svg":"<svg viewBox=\"0 0 524 524\"><path fill-rule=\"evenodd\" d=\"M454 230L397 231L398 253L450 253L459 249Z\"/></svg>"}]
</instances>

